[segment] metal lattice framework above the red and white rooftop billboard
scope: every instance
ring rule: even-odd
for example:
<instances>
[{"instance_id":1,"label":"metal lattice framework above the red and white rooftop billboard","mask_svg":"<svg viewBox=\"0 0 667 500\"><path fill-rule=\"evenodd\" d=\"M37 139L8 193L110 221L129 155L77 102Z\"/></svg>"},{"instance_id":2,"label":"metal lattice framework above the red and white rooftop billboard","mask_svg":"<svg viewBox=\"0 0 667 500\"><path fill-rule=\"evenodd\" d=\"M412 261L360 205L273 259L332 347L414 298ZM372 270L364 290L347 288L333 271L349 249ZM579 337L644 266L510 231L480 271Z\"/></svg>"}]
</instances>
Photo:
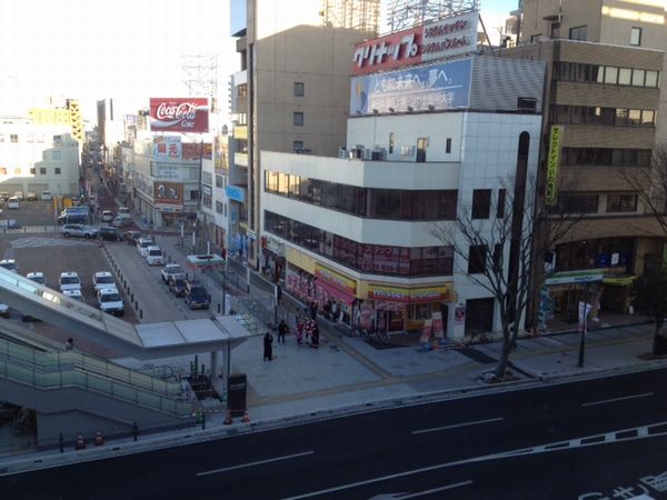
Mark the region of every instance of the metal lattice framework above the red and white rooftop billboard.
<instances>
[{"instance_id":1,"label":"metal lattice framework above the red and white rooftop billboard","mask_svg":"<svg viewBox=\"0 0 667 500\"><path fill-rule=\"evenodd\" d=\"M479 0L390 0L388 3L387 26L391 32L479 10Z\"/></svg>"}]
</instances>

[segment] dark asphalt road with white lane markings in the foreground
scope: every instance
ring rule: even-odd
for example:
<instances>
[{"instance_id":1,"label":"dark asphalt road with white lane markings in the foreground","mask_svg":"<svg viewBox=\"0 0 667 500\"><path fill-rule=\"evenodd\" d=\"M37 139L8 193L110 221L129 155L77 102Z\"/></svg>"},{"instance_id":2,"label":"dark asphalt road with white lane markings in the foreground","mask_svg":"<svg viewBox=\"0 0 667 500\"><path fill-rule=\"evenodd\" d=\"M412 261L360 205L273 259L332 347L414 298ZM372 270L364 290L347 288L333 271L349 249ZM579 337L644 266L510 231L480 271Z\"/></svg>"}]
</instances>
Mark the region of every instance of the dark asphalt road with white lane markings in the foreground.
<instances>
[{"instance_id":1,"label":"dark asphalt road with white lane markings in the foreground","mask_svg":"<svg viewBox=\"0 0 667 500\"><path fill-rule=\"evenodd\" d=\"M667 498L655 481L667 479L666 373L398 408L2 477L0 491L11 499Z\"/></svg>"}]
</instances>

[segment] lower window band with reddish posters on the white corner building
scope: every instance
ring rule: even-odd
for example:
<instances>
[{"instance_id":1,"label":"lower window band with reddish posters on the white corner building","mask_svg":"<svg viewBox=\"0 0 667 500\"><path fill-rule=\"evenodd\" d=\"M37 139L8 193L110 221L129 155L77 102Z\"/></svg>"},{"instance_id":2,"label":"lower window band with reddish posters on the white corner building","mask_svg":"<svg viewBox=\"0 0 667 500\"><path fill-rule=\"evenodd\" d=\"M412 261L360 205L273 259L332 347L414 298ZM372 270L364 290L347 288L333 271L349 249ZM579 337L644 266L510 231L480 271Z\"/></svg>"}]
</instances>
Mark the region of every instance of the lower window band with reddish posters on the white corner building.
<instances>
[{"instance_id":1,"label":"lower window band with reddish posters on the white corner building","mask_svg":"<svg viewBox=\"0 0 667 500\"><path fill-rule=\"evenodd\" d=\"M452 247L366 244L265 210L265 230L348 268L390 276L450 276Z\"/></svg>"}]
</instances>

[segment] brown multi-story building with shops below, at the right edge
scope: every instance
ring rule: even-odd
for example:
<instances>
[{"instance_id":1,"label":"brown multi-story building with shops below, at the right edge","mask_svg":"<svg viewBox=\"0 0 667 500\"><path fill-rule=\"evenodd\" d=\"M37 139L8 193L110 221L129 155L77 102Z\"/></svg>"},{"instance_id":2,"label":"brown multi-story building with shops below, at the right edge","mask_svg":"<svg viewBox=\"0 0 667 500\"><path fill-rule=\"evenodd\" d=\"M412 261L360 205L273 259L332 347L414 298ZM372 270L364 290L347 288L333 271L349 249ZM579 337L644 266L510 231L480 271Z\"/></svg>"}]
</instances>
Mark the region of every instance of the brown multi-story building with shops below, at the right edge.
<instances>
[{"instance_id":1,"label":"brown multi-story building with shops below, at the right edge","mask_svg":"<svg viewBox=\"0 0 667 500\"><path fill-rule=\"evenodd\" d=\"M599 307L626 312L633 279L663 254L640 187L628 180L643 177L667 138L665 14L651 0L525 0L522 41L502 52L546 62L546 202L554 218L580 218L548 258L556 273L541 291L541 326L576 318L581 300L593 304L594 320ZM559 143L549 143L552 131ZM548 156L550 146L560 161Z\"/></svg>"}]
</instances>

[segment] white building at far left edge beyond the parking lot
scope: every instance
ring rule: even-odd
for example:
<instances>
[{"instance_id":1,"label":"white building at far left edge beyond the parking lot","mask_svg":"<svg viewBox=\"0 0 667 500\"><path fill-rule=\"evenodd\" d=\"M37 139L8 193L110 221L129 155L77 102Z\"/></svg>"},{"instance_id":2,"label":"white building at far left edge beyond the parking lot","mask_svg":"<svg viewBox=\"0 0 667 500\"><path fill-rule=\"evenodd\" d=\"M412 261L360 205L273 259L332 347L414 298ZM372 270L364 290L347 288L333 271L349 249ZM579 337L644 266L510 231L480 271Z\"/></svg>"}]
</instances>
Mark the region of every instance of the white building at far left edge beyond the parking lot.
<instances>
[{"instance_id":1,"label":"white building at far left edge beyond the parking lot","mask_svg":"<svg viewBox=\"0 0 667 500\"><path fill-rule=\"evenodd\" d=\"M28 118L0 122L0 191L79 196L79 142L69 123L37 124Z\"/></svg>"}]
</instances>

